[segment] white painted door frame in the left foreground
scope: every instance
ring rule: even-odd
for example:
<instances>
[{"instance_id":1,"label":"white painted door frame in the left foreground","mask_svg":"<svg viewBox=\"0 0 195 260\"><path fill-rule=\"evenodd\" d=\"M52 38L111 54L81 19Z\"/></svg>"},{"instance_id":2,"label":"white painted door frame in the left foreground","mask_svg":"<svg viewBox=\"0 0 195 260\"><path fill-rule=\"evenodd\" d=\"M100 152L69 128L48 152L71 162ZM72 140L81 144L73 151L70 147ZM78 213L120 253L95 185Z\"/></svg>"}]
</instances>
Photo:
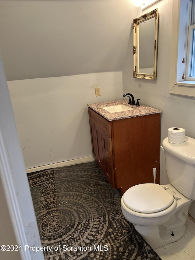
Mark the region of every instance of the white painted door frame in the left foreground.
<instances>
[{"instance_id":1,"label":"white painted door frame in the left foreground","mask_svg":"<svg viewBox=\"0 0 195 260\"><path fill-rule=\"evenodd\" d=\"M44 260L42 251L24 250L25 245L41 247L33 201L20 148L12 104L0 54L0 177L12 228L22 260ZM0 220L1 221L1 220Z\"/></svg>"}]
</instances>

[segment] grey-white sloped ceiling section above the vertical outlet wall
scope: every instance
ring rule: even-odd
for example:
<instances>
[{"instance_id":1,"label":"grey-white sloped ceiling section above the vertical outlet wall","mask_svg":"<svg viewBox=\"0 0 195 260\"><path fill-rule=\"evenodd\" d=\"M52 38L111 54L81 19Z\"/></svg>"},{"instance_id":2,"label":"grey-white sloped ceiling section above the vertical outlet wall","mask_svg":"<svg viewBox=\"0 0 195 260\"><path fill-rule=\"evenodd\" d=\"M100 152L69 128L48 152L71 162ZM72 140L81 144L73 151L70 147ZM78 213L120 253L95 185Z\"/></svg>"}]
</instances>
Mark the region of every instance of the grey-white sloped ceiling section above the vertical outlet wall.
<instances>
[{"instance_id":1,"label":"grey-white sloped ceiling section above the vertical outlet wall","mask_svg":"<svg viewBox=\"0 0 195 260\"><path fill-rule=\"evenodd\" d=\"M122 70L132 0L0 0L7 80Z\"/></svg>"}]
</instances>

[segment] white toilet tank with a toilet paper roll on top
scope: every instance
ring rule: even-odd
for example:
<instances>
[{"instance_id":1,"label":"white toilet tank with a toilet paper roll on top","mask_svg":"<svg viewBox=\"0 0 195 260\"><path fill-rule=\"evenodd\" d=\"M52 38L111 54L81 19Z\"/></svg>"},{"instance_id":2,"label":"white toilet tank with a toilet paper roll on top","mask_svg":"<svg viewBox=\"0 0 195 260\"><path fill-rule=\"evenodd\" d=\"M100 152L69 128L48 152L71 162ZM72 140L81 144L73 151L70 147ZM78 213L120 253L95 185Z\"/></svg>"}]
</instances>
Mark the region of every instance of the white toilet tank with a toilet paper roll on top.
<instances>
[{"instance_id":1,"label":"white toilet tank with a toilet paper roll on top","mask_svg":"<svg viewBox=\"0 0 195 260\"><path fill-rule=\"evenodd\" d=\"M195 139L184 137L182 144L162 142L165 150L167 176L179 192L195 200Z\"/></svg>"}]
</instances>

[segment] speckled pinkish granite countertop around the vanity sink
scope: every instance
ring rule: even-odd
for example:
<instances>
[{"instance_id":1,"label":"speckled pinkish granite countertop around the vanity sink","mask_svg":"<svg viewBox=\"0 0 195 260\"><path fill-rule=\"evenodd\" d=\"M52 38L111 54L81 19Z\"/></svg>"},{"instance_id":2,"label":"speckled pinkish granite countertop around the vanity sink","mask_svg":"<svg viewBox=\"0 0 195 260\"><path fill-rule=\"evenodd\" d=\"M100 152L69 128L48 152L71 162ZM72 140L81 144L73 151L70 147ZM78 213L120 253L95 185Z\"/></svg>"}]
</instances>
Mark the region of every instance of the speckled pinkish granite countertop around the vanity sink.
<instances>
[{"instance_id":1,"label":"speckled pinkish granite countertop around the vanity sink","mask_svg":"<svg viewBox=\"0 0 195 260\"><path fill-rule=\"evenodd\" d=\"M145 115L161 113L161 110L158 110L158 109L155 109L152 107L148 107L145 105L141 105L141 104L140 104L140 106L135 106L135 105L131 106L128 104L128 102L129 101L127 99L121 99L121 100L101 102L101 103L95 103L95 104L87 104L87 105L88 105L88 107L93 109L95 112L97 112L98 114L100 114L101 116L106 118L108 121L135 117L135 116L145 116ZM127 106L133 108L133 110L110 113L102 108L105 106L112 106L112 105L119 105L119 104L127 105Z\"/></svg>"}]
</instances>

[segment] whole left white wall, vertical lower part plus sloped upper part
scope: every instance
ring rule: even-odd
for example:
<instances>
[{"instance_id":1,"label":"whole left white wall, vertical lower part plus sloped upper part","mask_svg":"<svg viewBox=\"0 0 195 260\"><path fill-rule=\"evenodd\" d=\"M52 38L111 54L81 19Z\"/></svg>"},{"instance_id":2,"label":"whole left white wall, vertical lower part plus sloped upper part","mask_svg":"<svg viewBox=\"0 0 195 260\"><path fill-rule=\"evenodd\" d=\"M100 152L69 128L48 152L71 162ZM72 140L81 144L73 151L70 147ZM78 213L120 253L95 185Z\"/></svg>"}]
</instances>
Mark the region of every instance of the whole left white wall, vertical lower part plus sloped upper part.
<instances>
[{"instance_id":1,"label":"whole left white wall, vertical lower part plus sloped upper part","mask_svg":"<svg viewBox=\"0 0 195 260\"><path fill-rule=\"evenodd\" d=\"M122 98L134 9L129 0L0 0L0 48L26 168L92 155L87 103Z\"/></svg>"}]
</instances>

